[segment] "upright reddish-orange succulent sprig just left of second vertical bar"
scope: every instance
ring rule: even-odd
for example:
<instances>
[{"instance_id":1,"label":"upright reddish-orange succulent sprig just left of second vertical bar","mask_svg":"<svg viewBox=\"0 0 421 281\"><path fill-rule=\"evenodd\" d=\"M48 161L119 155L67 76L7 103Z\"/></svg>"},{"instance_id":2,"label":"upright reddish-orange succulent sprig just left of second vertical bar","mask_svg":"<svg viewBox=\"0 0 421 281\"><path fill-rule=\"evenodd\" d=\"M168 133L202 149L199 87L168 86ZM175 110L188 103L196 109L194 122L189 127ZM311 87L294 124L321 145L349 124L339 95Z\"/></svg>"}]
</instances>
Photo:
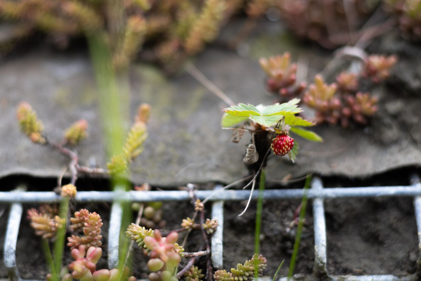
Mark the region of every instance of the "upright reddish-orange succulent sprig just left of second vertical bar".
<instances>
[{"instance_id":1,"label":"upright reddish-orange succulent sprig just left of second vertical bar","mask_svg":"<svg viewBox=\"0 0 421 281\"><path fill-rule=\"evenodd\" d=\"M85 245L86 247L99 247L102 245L101 242L101 226L102 226L102 219L96 212L89 213L88 216L86 215L85 209L81 209L79 212L75 213L75 219L71 220L72 222L72 229L79 229L81 218L85 219L85 227L83 228L83 234L85 236L76 236L72 235L72 237L68 237L67 246L71 247L71 249L79 248L81 245ZM75 224L73 224L75 222Z\"/></svg>"}]
</instances>

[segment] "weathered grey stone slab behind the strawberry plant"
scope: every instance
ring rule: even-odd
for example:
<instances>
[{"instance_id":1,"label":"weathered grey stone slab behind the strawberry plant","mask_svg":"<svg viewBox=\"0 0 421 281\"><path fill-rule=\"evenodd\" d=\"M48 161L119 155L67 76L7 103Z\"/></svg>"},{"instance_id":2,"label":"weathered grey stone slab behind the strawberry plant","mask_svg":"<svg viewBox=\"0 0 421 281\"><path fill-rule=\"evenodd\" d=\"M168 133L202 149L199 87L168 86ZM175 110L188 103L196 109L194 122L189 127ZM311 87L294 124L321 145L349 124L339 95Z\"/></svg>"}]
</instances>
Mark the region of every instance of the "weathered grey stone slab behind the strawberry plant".
<instances>
[{"instance_id":1,"label":"weathered grey stone slab behind the strawberry plant","mask_svg":"<svg viewBox=\"0 0 421 281\"><path fill-rule=\"evenodd\" d=\"M264 94L264 74L257 56L286 48L293 48L293 54L312 51L296 48L290 41L289 45L274 45L285 38L290 40L282 30L277 32L272 33L277 36L253 37L245 45L245 57L210 47L196 58L195 65L235 102L269 104L272 97ZM408 60L413 58L404 58L401 63L408 64ZM310 73L321 67L320 59L312 56ZM392 86L393 81L392 77ZM226 104L194 78L184 73L168 80L153 67L135 64L130 82L131 115L141 102L152 105L146 149L132 166L135 182L229 183L247 174L242 157L250 138L245 136L239 144L229 142L231 132L220 128L221 110ZM318 126L315 131L325 142L309 143L297 137L301 152L296 164L273 157L269 177L281 179L289 173L299 177L311 171L361 177L401 166L421 166L419 98L396 85L378 87L375 92L381 99L380 111L371 127ZM95 159L100 166L106 165L95 80L87 54L38 49L0 66L0 177L56 177L67 166L67 159L47 147L33 145L19 132L15 112L22 100L32 104L45 132L54 140L75 120L88 120L90 136L77 147L80 162L86 165Z\"/></svg>"}]
</instances>

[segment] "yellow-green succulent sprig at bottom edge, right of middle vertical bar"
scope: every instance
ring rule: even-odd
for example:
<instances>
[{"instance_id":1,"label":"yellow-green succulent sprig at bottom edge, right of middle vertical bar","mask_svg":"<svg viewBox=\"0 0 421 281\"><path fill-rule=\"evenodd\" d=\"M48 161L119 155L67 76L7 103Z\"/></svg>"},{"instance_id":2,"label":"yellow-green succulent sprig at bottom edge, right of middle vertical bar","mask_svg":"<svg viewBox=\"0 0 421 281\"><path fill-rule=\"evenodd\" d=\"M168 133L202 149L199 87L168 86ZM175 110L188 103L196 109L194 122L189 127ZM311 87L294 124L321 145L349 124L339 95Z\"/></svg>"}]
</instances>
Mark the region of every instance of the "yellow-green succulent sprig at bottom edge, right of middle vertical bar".
<instances>
[{"instance_id":1,"label":"yellow-green succulent sprig at bottom edge, right of middle vertical bar","mask_svg":"<svg viewBox=\"0 0 421 281\"><path fill-rule=\"evenodd\" d=\"M256 262L257 260L257 262ZM226 270L216 270L213 278L216 281L247 281L254 279L254 270L257 265L259 276L263 275L266 268L266 259L262 255L254 254L250 260L246 260L244 264L237 264L237 268L231 268L231 272Z\"/></svg>"}]
</instances>

